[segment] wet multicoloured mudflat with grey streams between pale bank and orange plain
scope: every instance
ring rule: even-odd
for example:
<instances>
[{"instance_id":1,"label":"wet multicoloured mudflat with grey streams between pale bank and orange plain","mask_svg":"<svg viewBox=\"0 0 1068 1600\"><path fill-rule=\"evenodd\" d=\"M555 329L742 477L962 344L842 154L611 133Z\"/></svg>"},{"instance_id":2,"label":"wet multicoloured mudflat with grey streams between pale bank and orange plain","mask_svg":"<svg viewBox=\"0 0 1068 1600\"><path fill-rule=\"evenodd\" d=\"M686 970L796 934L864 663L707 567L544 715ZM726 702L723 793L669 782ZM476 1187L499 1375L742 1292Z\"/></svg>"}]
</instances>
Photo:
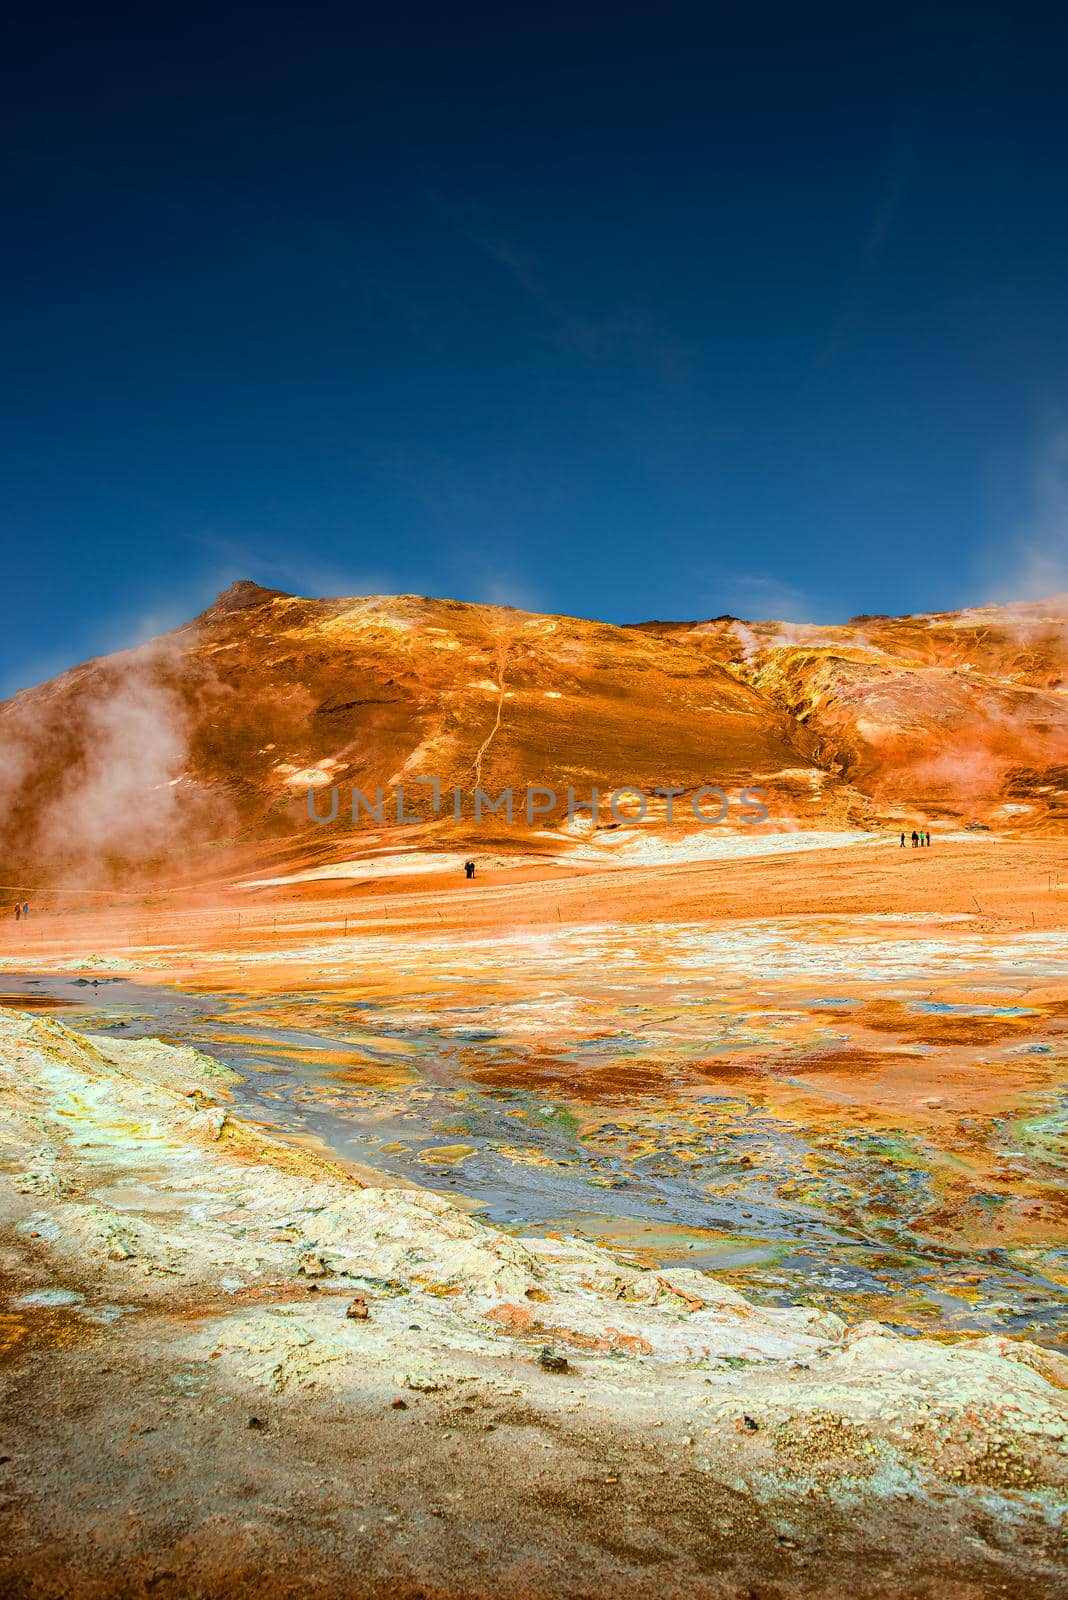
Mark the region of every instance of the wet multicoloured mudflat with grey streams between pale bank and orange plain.
<instances>
[{"instance_id":1,"label":"wet multicoloured mudflat with grey streams between pale bank and orange plain","mask_svg":"<svg viewBox=\"0 0 1068 1600\"><path fill-rule=\"evenodd\" d=\"M173 987L86 963L3 976L0 1003L193 1045L241 1074L241 1115L505 1227L1055 1344L1066 970L1050 934L867 918L353 938Z\"/></svg>"}]
</instances>

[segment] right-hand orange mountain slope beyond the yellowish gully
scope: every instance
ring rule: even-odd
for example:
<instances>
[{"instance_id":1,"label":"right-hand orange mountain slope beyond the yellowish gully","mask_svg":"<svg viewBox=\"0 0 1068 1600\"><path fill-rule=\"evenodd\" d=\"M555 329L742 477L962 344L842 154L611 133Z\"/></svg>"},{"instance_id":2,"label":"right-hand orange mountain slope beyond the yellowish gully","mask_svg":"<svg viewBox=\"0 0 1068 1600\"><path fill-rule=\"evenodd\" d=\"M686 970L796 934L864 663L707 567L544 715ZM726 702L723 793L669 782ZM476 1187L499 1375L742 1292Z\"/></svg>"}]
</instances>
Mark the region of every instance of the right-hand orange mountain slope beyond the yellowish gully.
<instances>
[{"instance_id":1,"label":"right-hand orange mountain slope beyond the yellowish gully","mask_svg":"<svg viewBox=\"0 0 1068 1600\"><path fill-rule=\"evenodd\" d=\"M1068 597L844 626L652 624L787 710L881 808L1068 822Z\"/></svg>"}]
</instances>

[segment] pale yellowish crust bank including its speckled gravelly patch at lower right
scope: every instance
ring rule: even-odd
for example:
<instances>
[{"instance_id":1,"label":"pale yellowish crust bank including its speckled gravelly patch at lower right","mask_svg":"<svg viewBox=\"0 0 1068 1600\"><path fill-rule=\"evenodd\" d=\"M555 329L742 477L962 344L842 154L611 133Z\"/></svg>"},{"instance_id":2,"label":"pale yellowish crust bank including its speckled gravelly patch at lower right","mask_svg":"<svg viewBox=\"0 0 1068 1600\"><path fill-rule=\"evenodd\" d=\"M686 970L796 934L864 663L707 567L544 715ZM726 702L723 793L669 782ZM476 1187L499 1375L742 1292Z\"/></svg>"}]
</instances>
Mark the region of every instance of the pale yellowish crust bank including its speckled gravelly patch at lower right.
<instances>
[{"instance_id":1,"label":"pale yellowish crust bank including its speckled gravelly patch at lower right","mask_svg":"<svg viewBox=\"0 0 1068 1600\"><path fill-rule=\"evenodd\" d=\"M294 1403L470 1416L512 1397L552 1426L579 1408L611 1429L606 1485L656 1438L710 1496L769 1517L962 1496L1026 1530L1020 1560L1046 1571L1068 1418L1055 1354L851 1328L702 1272L516 1238L277 1142L232 1114L230 1083L192 1050L0 1016L3 1237L37 1277L11 1320L62 1307L98 1330L94 1362L122 1363L147 1318L155 1365L211 1373L254 1419Z\"/></svg>"}]
</instances>

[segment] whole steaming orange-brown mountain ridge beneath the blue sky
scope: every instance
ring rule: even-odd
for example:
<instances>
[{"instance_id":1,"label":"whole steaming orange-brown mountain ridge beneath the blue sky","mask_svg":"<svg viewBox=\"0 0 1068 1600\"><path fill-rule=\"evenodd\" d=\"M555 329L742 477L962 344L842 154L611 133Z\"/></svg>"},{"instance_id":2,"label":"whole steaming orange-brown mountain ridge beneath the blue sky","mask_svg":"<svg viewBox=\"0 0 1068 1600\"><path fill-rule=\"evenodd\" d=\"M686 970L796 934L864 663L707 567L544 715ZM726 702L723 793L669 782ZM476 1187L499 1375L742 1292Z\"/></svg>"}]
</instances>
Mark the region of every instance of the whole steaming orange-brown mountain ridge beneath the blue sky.
<instances>
[{"instance_id":1,"label":"whole steaming orange-brown mountain ridge beneath the blue sky","mask_svg":"<svg viewBox=\"0 0 1068 1600\"><path fill-rule=\"evenodd\" d=\"M3 882L200 875L251 850L353 853L349 795L397 789L427 846L472 838L475 787L516 790L504 846L566 850L566 792L766 790L774 826L899 819L1063 830L1068 597L841 627L614 627L412 595L304 600L233 584L187 626L0 706ZM438 778L462 794L435 816ZM323 814L309 821L307 790ZM526 786L553 814L528 827ZM679 811L681 806L681 811ZM715 805L713 805L715 810ZM366 824L366 818L361 819ZM601 826L612 818L601 816ZM723 826L739 826L732 811ZM911 822L910 822L911 826ZM480 837L484 837L486 824ZM588 832L588 829L587 829ZM358 830L366 837L366 826Z\"/></svg>"}]
</instances>

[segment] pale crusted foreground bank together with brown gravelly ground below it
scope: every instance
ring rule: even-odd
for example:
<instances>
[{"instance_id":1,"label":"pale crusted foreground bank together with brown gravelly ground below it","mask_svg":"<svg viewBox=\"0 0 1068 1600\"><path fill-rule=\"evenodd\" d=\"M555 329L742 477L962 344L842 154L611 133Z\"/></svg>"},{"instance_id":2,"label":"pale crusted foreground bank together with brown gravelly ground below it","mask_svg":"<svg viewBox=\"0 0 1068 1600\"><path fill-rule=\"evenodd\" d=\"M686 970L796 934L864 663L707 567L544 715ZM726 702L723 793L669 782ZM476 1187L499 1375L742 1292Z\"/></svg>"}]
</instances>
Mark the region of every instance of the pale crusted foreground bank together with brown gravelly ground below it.
<instances>
[{"instance_id":1,"label":"pale crusted foreground bank together with brown gravelly ground below it","mask_svg":"<svg viewBox=\"0 0 1068 1600\"><path fill-rule=\"evenodd\" d=\"M5 1594L1055 1592L1055 1354L516 1238L230 1088L0 1016Z\"/></svg>"}]
</instances>

